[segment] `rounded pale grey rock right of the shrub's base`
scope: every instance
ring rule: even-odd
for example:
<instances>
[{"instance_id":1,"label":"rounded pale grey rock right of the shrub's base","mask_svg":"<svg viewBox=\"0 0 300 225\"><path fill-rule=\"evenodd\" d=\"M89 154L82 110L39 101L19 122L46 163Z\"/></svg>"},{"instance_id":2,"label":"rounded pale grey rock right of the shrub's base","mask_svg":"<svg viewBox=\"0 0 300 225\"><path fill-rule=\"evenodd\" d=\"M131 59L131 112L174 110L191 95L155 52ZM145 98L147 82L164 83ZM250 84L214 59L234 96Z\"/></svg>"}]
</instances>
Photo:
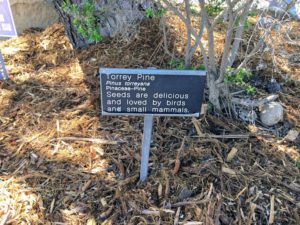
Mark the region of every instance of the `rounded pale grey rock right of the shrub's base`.
<instances>
[{"instance_id":1,"label":"rounded pale grey rock right of the shrub's base","mask_svg":"<svg viewBox=\"0 0 300 225\"><path fill-rule=\"evenodd\" d=\"M266 126L273 126L283 120L283 107L278 102L265 104L260 112L260 120Z\"/></svg>"}]
</instances>

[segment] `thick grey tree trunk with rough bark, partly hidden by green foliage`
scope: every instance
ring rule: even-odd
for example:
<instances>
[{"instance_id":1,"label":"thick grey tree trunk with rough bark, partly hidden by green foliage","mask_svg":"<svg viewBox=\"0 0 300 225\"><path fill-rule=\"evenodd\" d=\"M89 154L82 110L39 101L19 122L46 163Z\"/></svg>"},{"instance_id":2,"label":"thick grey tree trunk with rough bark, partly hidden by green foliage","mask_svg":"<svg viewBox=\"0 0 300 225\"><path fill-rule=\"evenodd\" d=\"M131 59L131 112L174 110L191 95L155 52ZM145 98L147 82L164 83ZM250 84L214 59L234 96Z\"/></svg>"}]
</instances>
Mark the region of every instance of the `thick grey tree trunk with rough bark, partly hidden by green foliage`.
<instances>
[{"instance_id":1,"label":"thick grey tree trunk with rough bark, partly hidden by green foliage","mask_svg":"<svg viewBox=\"0 0 300 225\"><path fill-rule=\"evenodd\" d=\"M66 33L74 48L82 48L90 43L76 31L72 24L72 15L62 9L65 0L53 0ZM81 4L86 0L70 0L73 4ZM153 0L94 0L95 17L98 29L103 37L113 37L117 34L131 32L145 18L145 9L154 8Z\"/></svg>"}]
</instances>

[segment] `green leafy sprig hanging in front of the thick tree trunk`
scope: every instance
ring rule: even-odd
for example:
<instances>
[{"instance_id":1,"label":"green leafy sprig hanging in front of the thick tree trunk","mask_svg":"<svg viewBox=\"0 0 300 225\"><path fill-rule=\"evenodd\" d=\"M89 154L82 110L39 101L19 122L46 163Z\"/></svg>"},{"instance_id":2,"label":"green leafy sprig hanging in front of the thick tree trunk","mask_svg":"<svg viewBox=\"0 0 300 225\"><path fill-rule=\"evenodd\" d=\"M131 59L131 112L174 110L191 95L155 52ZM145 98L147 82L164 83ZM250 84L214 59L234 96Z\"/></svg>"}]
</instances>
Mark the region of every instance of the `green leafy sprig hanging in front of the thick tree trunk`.
<instances>
[{"instance_id":1,"label":"green leafy sprig hanging in front of the thick tree trunk","mask_svg":"<svg viewBox=\"0 0 300 225\"><path fill-rule=\"evenodd\" d=\"M72 24L77 32L90 42L102 41L103 37L97 26L95 17L95 5L93 0L85 0L81 4L73 4L70 0L65 0L62 9L72 15Z\"/></svg>"}]
</instances>

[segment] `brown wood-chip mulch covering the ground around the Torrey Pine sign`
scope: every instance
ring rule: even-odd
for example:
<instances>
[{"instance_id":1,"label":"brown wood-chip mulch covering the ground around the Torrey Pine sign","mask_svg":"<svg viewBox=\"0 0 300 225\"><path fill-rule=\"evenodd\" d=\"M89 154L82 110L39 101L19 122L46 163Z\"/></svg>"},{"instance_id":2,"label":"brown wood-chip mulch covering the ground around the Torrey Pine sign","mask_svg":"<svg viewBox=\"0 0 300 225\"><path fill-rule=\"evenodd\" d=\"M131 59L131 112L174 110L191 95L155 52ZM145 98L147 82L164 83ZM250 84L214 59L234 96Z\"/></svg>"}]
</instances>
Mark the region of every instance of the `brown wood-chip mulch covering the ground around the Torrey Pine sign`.
<instances>
[{"instance_id":1,"label":"brown wood-chip mulch covering the ground around the Torrey Pine sign","mask_svg":"<svg viewBox=\"0 0 300 225\"><path fill-rule=\"evenodd\" d=\"M176 57L182 27L170 31ZM98 69L170 68L159 22L82 50L61 24L2 42L10 80L0 81L0 224L300 224L300 140L274 135L286 123L300 130L300 65L286 64L299 53L299 27L296 47L276 42L285 51L277 70L263 57L267 68L256 74L261 94L271 77L282 85L284 121L155 118L145 183L143 118L100 115Z\"/></svg>"}]
</instances>

